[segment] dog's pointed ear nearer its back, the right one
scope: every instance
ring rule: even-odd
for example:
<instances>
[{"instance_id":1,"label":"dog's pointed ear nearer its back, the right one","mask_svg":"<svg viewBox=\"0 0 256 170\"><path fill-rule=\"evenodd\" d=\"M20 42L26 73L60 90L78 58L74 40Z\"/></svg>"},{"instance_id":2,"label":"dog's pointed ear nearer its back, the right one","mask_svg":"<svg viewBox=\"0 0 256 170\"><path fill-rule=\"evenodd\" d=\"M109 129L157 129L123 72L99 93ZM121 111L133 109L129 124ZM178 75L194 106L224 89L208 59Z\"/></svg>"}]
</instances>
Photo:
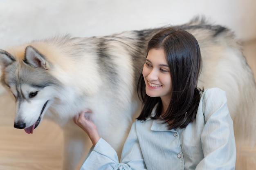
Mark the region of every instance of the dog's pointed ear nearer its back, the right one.
<instances>
[{"instance_id":1,"label":"dog's pointed ear nearer its back, the right one","mask_svg":"<svg viewBox=\"0 0 256 170\"><path fill-rule=\"evenodd\" d=\"M37 51L33 46L26 47L24 62L34 68L42 67L46 70L49 69L49 62L47 62L44 55Z\"/></svg>"}]
</instances>

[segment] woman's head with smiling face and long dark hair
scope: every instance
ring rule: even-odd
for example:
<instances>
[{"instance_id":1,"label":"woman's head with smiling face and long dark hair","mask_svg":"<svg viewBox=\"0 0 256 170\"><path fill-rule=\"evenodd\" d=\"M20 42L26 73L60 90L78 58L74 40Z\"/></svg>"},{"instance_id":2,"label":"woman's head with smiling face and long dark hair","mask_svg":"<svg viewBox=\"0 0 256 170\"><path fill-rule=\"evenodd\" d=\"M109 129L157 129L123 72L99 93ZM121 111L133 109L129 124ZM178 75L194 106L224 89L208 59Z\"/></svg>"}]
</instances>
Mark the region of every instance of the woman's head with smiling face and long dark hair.
<instances>
[{"instance_id":1,"label":"woman's head with smiling face and long dark hair","mask_svg":"<svg viewBox=\"0 0 256 170\"><path fill-rule=\"evenodd\" d=\"M138 119L145 120L158 103L162 108L157 107L153 118L168 122L170 129L185 128L195 119L200 100L200 89L196 88L201 71L200 47L195 37L182 29L174 27L161 33L148 42L142 71L145 82L142 76L139 82L141 89L146 84L146 94L141 90L145 105ZM155 84L161 86L155 88Z\"/></svg>"}]
</instances>

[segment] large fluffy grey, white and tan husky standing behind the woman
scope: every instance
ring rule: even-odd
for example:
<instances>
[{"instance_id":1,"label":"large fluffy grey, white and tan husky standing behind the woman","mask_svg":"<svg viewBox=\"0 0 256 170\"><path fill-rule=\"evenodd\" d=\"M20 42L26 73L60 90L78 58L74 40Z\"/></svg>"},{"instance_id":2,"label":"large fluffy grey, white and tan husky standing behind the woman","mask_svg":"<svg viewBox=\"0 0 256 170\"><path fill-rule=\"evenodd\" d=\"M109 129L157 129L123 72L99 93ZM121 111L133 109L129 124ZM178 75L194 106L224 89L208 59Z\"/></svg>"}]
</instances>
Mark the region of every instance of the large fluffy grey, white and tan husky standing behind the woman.
<instances>
[{"instance_id":1,"label":"large fluffy grey, white and tan husky standing behind the woman","mask_svg":"<svg viewBox=\"0 0 256 170\"><path fill-rule=\"evenodd\" d=\"M254 142L256 85L234 34L198 18L178 27L200 44L198 87L226 91L237 142ZM120 155L141 109L137 81L146 46L161 29L89 38L65 35L0 50L1 83L16 102L14 127L33 133L44 117L55 121L64 130L63 170L74 170L91 143L72 117L88 108L101 137Z\"/></svg>"}]
</instances>

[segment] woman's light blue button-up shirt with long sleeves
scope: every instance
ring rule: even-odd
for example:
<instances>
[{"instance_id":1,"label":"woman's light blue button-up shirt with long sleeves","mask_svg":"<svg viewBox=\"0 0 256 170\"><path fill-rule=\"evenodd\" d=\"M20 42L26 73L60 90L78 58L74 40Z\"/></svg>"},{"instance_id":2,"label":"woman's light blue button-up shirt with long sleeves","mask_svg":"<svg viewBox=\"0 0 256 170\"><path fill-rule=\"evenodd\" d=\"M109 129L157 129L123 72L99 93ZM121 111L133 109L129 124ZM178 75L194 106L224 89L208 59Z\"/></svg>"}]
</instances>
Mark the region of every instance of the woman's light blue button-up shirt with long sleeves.
<instances>
[{"instance_id":1,"label":"woman's light blue button-up shirt with long sleeves","mask_svg":"<svg viewBox=\"0 0 256 170\"><path fill-rule=\"evenodd\" d=\"M153 111L154 114L154 111ZM219 88L202 93L196 119L186 128L168 130L148 118L136 120L120 163L115 150L100 139L81 170L234 170L236 144L227 98Z\"/></svg>"}]
</instances>

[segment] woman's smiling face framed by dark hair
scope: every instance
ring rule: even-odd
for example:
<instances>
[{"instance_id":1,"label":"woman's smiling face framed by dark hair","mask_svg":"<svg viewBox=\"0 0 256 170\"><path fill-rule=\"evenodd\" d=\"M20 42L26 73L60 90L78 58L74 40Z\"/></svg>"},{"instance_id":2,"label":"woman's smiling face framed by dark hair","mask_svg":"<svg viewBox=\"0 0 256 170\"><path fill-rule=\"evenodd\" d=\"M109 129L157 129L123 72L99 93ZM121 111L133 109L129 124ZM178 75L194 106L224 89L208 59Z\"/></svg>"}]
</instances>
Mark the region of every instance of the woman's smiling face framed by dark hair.
<instances>
[{"instance_id":1,"label":"woman's smiling face framed by dark hair","mask_svg":"<svg viewBox=\"0 0 256 170\"><path fill-rule=\"evenodd\" d=\"M170 101L172 82L169 66L163 49L150 49L143 66L142 75L146 84L146 94Z\"/></svg>"}]
</instances>

